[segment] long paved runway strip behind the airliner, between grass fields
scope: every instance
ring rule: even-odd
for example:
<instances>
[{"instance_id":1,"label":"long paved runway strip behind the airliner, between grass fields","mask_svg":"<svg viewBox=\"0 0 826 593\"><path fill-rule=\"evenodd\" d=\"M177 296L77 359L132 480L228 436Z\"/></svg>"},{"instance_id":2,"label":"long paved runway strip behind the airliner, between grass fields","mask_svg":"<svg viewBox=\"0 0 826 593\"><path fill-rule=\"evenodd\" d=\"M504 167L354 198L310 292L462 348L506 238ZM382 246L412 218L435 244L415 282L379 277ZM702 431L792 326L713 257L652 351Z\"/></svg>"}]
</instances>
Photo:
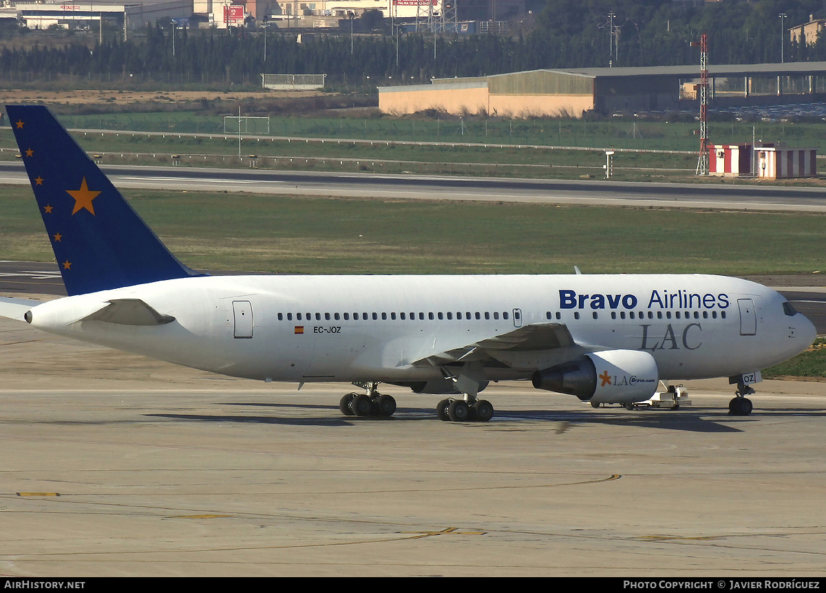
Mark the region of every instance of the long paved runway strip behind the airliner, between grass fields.
<instances>
[{"instance_id":1,"label":"long paved runway strip behind the airliner, between grass fields","mask_svg":"<svg viewBox=\"0 0 826 593\"><path fill-rule=\"evenodd\" d=\"M472 200L826 212L814 187L693 183L618 183L602 179L421 177L260 169L102 166L116 187L230 191L381 199ZM19 163L0 163L0 183L29 183ZM434 197L435 196L435 197Z\"/></svg>"}]
</instances>

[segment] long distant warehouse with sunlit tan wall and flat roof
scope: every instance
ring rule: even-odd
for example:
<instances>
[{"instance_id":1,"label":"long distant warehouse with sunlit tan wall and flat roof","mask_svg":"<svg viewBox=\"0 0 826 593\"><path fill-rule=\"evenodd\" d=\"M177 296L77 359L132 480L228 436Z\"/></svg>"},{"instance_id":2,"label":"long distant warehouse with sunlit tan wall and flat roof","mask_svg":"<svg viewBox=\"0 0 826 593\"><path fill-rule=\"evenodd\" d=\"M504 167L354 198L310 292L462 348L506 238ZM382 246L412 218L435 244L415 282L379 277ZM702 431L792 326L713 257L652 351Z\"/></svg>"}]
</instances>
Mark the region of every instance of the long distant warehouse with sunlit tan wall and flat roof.
<instances>
[{"instance_id":1,"label":"long distant warehouse with sunlit tan wall and flat roof","mask_svg":"<svg viewBox=\"0 0 826 593\"><path fill-rule=\"evenodd\" d=\"M436 109L512 117L678 111L695 106L699 83L699 64L530 70L379 87L378 107L398 115ZM710 65L709 84L713 107L824 101L826 62Z\"/></svg>"}]
</instances>

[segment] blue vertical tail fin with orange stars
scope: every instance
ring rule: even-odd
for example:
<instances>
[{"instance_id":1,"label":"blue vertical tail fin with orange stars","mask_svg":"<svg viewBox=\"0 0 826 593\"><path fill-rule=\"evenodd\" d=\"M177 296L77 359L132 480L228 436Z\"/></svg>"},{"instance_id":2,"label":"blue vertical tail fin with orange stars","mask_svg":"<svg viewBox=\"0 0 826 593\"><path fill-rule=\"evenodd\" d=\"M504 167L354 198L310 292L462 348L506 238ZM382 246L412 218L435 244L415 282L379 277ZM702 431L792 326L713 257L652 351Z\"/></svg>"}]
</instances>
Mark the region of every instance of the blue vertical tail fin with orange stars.
<instances>
[{"instance_id":1,"label":"blue vertical tail fin with orange stars","mask_svg":"<svg viewBox=\"0 0 826 593\"><path fill-rule=\"evenodd\" d=\"M46 107L6 111L69 295L196 275Z\"/></svg>"}]
</instances>

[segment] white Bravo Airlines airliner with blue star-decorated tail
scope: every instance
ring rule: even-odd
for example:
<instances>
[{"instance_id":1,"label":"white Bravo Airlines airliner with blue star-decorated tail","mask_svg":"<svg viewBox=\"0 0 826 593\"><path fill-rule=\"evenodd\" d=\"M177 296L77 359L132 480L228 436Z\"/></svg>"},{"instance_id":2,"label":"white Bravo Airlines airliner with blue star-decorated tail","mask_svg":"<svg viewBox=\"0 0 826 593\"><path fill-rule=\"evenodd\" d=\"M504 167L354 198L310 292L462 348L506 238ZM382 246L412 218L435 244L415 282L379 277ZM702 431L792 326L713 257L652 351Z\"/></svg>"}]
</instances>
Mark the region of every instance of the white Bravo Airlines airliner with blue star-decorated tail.
<instances>
[{"instance_id":1,"label":"white Bravo Airlines airliner with blue star-decorated tail","mask_svg":"<svg viewBox=\"0 0 826 593\"><path fill-rule=\"evenodd\" d=\"M2 298L0 315L231 377L353 383L344 415L391 416L382 383L444 394L441 420L485 422L491 382L632 407L709 377L729 377L729 412L748 415L760 369L816 337L778 292L722 276L197 273L48 109L7 115L69 296Z\"/></svg>"}]
</instances>

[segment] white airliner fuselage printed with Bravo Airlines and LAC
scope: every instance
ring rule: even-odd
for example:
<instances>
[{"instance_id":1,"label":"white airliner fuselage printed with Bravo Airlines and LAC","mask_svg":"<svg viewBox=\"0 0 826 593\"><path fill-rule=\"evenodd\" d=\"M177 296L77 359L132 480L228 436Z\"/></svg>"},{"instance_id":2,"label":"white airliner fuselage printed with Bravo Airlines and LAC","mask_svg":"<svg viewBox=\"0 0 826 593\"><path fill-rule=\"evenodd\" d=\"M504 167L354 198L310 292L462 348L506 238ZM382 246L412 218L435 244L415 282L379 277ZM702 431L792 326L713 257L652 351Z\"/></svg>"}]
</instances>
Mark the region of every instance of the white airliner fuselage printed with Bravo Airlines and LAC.
<instances>
[{"instance_id":1,"label":"white airliner fuselage printed with Bravo Airlines and LAC","mask_svg":"<svg viewBox=\"0 0 826 593\"><path fill-rule=\"evenodd\" d=\"M174 320L83 320L116 299ZM46 302L31 324L235 377L408 382L443 377L414 364L428 356L556 323L574 346L500 353L487 378L629 349L651 353L660 378L689 379L752 372L807 348L814 326L784 301L754 282L705 275L212 276Z\"/></svg>"}]
</instances>

